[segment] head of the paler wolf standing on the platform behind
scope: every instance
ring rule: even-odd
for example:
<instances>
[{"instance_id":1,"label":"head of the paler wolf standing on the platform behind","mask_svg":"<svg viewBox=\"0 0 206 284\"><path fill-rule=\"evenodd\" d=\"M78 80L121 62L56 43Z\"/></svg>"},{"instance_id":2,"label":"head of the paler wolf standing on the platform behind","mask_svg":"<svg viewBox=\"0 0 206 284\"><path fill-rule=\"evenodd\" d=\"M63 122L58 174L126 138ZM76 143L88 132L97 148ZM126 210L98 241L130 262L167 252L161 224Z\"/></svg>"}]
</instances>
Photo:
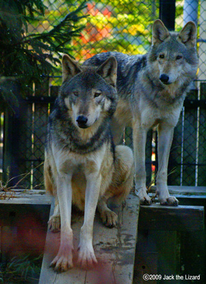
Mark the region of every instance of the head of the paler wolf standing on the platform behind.
<instances>
[{"instance_id":1,"label":"head of the paler wolf standing on the platform behind","mask_svg":"<svg viewBox=\"0 0 206 284\"><path fill-rule=\"evenodd\" d=\"M148 62L161 84L172 84L194 79L198 58L196 55L196 25L190 21L181 32L169 32L158 19L153 24L152 47Z\"/></svg>"}]
</instances>

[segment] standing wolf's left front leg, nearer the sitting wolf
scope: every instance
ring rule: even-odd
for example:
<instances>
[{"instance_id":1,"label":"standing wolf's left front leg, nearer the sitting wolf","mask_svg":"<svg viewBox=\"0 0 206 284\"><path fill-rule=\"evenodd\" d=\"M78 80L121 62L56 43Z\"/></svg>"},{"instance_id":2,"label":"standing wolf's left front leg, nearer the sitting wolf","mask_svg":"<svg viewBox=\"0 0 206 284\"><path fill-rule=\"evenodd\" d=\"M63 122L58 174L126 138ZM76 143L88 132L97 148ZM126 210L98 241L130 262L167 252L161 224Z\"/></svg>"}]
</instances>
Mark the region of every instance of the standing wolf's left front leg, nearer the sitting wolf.
<instances>
[{"instance_id":1,"label":"standing wolf's left front leg, nearer the sitting wolf","mask_svg":"<svg viewBox=\"0 0 206 284\"><path fill-rule=\"evenodd\" d=\"M150 205L151 200L146 189L145 147L147 129L134 123L133 145L135 160L135 192L139 196L140 204Z\"/></svg>"}]
</instances>

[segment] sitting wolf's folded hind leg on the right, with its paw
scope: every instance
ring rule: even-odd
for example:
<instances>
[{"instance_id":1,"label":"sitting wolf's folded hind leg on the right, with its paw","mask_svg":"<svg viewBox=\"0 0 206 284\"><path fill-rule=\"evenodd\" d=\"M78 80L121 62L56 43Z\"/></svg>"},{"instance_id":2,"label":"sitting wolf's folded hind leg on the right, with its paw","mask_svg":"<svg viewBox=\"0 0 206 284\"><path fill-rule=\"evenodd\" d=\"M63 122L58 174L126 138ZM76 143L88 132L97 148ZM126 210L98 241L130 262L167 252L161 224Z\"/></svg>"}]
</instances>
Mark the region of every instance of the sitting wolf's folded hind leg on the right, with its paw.
<instances>
[{"instance_id":1,"label":"sitting wolf's folded hind leg on the right, with its paw","mask_svg":"<svg viewBox=\"0 0 206 284\"><path fill-rule=\"evenodd\" d=\"M118 145L115 148L115 171L111 186L98 202L98 210L106 226L113 228L117 224L117 214L108 208L108 204L111 207L122 204L133 188L133 180L133 152L127 146Z\"/></svg>"}]
</instances>

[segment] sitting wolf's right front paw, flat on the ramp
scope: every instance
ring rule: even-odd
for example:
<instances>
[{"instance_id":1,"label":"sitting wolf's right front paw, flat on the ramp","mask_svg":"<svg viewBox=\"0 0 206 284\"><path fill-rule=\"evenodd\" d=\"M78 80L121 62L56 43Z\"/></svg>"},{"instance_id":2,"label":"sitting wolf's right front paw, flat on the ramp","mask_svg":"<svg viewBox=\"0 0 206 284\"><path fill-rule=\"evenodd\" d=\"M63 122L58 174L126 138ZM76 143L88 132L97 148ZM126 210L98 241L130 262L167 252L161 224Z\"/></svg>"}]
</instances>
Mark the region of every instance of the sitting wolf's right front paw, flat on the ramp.
<instances>
[{"instance_id":1,"label":"sitting wolf's right front paw, flat on the ramp","mask_svg":"<svg viewBox=\"0 0 206 284\"><path fill-rule=\"evenodd\" d=\"M83 269L92 268L95 263L98 263L92 244L79 246L78 265Z\"/></svg>"}]
</instances>

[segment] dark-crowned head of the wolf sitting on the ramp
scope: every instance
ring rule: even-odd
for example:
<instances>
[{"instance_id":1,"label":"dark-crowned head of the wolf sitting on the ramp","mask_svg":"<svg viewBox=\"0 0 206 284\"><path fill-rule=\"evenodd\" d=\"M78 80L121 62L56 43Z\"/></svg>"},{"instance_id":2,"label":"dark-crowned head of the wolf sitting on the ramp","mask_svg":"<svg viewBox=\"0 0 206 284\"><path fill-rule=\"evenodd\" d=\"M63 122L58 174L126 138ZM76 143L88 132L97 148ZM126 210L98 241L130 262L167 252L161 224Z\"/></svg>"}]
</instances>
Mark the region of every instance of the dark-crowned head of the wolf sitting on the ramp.
<instances>
[{"instance_id":1,"label":"dark-crowned head of the wolf sitting on the ramp","mask_svg":"<svg viewBox=\"0 0 206 284\"><path fill-rule=\"evenodd\" d=\"M117 61L113 56L98 68L80 67L69 56L62 57L60 97L73 124L89 128L100 117L113 115L117 106L116 77Z\"/></svg>"}]
</instances>

